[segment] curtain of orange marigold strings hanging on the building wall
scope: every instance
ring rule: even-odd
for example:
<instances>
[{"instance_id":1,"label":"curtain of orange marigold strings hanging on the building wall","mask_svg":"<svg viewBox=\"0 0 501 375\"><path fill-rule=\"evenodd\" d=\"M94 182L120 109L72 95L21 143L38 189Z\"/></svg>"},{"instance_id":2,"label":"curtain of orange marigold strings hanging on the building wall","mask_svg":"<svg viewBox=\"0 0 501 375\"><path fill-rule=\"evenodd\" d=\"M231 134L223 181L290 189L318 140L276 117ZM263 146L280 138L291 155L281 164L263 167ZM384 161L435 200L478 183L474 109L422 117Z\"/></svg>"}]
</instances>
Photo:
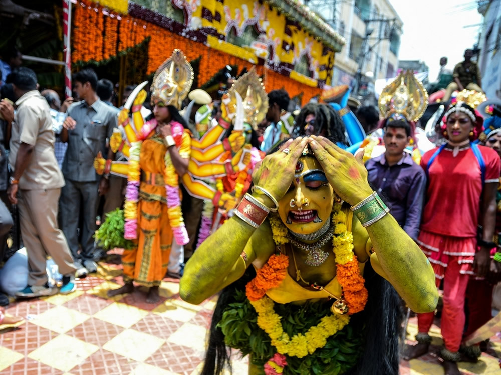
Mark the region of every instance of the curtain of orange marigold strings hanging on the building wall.
<instances>
[{"instance_id":1,"label":"curtain of orange marigold strings hanging on the building wall","mask_svg":"<svg viewBox=\"0 0 501 375\"><path fill-rule=\"evenodd\" d=\"M237 65L240 71L243 67L250 70L254 66L246 60L179 36L155 24L129 15L114 13L105 15L102 7L85 0L83 4L75 7L73 16L72 61L74 62L107 60L149 37L147 74L154 73L174 48L181 49L189 61L202 56L198 71L199 85L208 82L226 65ZM284 88L290 97L303 93L303 103L322 92L319 88L297 82L263 65L257 65L256 68L257 73L263 75L263 83L268 92Z\"/></svg>"}]
</instances>

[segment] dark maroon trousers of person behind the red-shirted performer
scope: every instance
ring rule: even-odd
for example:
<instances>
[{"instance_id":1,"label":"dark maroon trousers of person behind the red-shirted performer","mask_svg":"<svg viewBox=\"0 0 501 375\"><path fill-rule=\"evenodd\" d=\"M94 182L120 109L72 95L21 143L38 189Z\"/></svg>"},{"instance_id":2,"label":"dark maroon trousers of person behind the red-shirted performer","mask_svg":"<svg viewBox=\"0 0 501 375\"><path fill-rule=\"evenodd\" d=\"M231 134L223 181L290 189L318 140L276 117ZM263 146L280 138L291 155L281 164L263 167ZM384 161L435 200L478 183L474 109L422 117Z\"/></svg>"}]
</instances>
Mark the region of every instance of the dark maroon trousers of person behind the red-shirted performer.
<instances>
[{"instance_id":1,"label":"dark maroon trousers of person behind the red-shirted performer","mask_svg":"<svg viewBox=\"0 0 501 375\"><path fill-rule=\"evenodd\" d=\"M487 321L492 319L492 290L494 285L485 280L471 278L466 289L468 300L468 329L464 337L469 336Z\"/></svg>"}]
</instances>

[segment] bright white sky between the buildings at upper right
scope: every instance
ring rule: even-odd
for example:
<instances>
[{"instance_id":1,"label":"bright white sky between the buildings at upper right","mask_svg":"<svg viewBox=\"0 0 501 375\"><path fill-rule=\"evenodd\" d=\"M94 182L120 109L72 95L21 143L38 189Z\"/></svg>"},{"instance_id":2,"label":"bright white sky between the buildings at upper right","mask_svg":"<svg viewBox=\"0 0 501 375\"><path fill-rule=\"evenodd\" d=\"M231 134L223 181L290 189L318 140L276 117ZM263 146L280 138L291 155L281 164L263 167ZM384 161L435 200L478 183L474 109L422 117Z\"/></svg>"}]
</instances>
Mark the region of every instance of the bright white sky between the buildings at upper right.
<instances>
[{"instance_id":1,"label":"bright white sky between the buildings at upper right","mask_svg":"<svg viewBox=\"0 0 501 375\"><path fill-rule=\"evenodd\" d=\"M482 16L476 0L390 0L404 24L400 60L422 60L435 80L440 57L451 69L478 40ZM465 27L475 25L473 27Z\"/></svg>"}]
</instances>

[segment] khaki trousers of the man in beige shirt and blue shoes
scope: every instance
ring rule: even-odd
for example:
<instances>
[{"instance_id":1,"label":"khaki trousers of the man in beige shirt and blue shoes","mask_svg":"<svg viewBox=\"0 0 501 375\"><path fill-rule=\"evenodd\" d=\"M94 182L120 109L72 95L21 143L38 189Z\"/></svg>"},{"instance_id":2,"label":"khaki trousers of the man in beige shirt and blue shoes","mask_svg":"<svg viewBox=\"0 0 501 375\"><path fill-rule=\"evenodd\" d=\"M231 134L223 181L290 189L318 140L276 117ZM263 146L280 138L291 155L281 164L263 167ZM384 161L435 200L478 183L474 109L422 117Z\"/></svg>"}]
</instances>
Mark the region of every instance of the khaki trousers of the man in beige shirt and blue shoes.
<instances>
[{"instance_id":1,"label":"khaki trousers of the man in beige shirt and blue shoes","mask_svg":"<svg viewBox=\"0 0 501 375\"><path fill-rule=\"evenodd\" d=\"M66 239L57 228L61 189L19 190L18 210L23 243L28 254L28 285L47 282L47 256L51 256L63 276L75 274Z\"/></svg>"}]
</instances>

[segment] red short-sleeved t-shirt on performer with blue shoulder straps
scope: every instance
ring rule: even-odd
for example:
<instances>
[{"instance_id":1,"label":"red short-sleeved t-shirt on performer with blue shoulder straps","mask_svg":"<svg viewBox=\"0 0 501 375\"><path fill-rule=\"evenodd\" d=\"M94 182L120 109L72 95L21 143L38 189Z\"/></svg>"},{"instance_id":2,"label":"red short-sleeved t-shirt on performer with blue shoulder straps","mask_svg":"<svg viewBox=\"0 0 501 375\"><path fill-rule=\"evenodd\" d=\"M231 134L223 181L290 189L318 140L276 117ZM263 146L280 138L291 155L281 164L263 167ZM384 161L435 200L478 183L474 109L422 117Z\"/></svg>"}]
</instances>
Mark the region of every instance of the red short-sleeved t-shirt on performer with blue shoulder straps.
<instances>
[{"instance_id":1,"label":"red short-sleeved t-shirt on performer with blue shoulder straps","mask_svg":"<svg viewBox=\"0 0 501 375\"><path fill-rule=\"evenodd\" d=\"M497 180L501 169L499 155L491 148L478 148L485 162L486 183ZM421 158L425 171L436 150L429 150ZM456 157L451 149L444 148L428 170L421 230L452 237L476 237L481 193L480 165L471 148L459 151Z\"/></svg>"}]
</instances>

